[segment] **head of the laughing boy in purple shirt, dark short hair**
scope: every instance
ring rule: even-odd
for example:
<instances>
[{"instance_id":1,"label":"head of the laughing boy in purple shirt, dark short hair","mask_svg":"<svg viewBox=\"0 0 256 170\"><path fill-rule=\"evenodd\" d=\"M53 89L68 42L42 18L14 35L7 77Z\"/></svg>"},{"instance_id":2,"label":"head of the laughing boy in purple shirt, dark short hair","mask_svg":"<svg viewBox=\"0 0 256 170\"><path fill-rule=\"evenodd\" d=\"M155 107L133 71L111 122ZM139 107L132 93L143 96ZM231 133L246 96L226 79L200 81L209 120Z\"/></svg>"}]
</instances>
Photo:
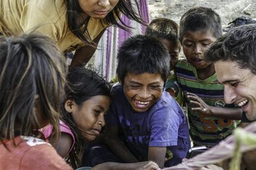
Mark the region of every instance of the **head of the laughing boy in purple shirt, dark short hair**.
<instances>
[{"instance_id":1,"label":"head of the laughing boy in purple shirt, dark short hair","mask_svg":"<svg viewBox=\"0 0 256 170\"><path fill-rule=\"evenodd\" d=\"M147 111L160 99L169 76L166 47L151 36L127 39L119 49L117 76L134 111Z\"/></svg>"}]
</instances>

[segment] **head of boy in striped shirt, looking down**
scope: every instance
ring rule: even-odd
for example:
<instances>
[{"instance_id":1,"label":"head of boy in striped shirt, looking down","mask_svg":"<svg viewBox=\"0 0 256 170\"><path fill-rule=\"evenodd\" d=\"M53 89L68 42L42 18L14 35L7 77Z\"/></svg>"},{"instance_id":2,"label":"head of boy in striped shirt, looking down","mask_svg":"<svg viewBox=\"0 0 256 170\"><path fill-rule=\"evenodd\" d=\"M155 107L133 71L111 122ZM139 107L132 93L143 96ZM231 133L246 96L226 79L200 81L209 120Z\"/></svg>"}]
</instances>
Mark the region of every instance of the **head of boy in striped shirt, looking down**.
<instances>
[{"instance_id":1,"label":"head of boy in striped shirt, looking down","mask_svg":"<svg viewBox=\"0 0 256 170\"><path fill-rule=\"evenodd\" d=\"M179 26L187 60L197 69L208 67L210 63L203 60L203 52L222 34L220 16L210 8L195 7L182 15Z\"/></svg>"}]
</instances>

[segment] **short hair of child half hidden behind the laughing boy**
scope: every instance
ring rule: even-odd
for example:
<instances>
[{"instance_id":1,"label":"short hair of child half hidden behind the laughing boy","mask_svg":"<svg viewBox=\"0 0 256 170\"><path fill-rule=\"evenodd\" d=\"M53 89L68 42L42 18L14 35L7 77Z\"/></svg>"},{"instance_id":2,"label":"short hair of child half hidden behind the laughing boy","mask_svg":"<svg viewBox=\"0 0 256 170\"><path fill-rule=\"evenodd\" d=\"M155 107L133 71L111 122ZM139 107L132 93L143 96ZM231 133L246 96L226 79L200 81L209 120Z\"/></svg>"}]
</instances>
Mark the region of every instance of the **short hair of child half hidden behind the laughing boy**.
<instances>
[{"instance_id":1,"label":"short hair of child half hidden behind the laughing boy","mask_svg":"<svg viewBox=\"0 0 256 170\"><path fill-rule=\"evenodd\" d=\"M168 18L156 18L147 26L145 35L177 43L179 41L179 25Z\"/></svg>"}]
</instances>

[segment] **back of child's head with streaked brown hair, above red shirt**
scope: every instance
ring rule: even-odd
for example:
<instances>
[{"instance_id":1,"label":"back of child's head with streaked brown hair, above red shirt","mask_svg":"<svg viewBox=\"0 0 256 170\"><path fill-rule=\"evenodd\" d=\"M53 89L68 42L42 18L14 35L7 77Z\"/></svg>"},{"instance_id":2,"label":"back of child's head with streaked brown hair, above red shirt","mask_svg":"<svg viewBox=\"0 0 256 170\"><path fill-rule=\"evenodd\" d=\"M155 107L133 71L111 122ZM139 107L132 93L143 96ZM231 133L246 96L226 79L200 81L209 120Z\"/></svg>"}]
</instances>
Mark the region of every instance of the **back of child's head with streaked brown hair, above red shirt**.
<instances>
[{"instance_id":1,"label":"back of child's head with streaked brown hair, above red shirt","mask_svg":"<svg viewBox=\"0 0 256 170\"><path fill-rule=\"evenodd\" d=\"M65 75L65 61L51 39L0 38L0 140L32 136L48 123L57 140Z\"/></svg>"}]
</instances>

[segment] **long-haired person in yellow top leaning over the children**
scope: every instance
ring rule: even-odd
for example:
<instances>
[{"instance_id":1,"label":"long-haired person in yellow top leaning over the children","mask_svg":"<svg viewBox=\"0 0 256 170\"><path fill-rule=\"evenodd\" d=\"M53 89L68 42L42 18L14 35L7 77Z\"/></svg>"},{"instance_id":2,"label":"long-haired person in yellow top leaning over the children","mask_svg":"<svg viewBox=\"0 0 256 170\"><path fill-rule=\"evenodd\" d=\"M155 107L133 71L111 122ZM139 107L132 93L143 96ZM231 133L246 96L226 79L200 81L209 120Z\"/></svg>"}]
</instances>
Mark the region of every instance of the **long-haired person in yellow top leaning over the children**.
<instances>
[{"instance_id":1,"label":"long-haired person in yellow top leaning over the children","mask_svg":"<svg viewBox=\"0 0 256 170\"><path fill-rule=\"evenodd\" d=\"M61 52L75 51L71 65L87 63L108 26L129 28L122 23L121 14L143 23L131 1L0 0L0 34L40 32L53 39Z\"/></svg>"}]
</instances>

